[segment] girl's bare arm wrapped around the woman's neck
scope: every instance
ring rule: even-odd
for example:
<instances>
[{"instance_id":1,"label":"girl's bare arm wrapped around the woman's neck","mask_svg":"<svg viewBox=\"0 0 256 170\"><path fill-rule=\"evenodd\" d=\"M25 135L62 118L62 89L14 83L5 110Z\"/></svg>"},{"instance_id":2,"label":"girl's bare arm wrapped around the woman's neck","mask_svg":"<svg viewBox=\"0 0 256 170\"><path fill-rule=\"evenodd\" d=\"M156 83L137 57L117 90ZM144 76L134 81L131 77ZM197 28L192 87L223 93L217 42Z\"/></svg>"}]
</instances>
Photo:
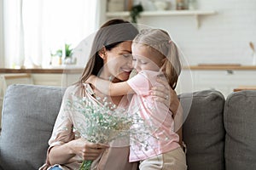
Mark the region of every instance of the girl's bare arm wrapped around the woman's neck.
<instances>
[{"instance_id":1,"label":"girl's bare arm wrapped around the woman's neck","mask_svg":"<svg viewBox=\"0 0 256 170\"><path fill-rule=\"evenodd\" d=\"M109 82L102 78L91 75L86 82L89 82L95 86L103 94L110 96L120 96L125 94L134 94L135 92L131 89L127 82Z\"/></svg>"}]
</instances>

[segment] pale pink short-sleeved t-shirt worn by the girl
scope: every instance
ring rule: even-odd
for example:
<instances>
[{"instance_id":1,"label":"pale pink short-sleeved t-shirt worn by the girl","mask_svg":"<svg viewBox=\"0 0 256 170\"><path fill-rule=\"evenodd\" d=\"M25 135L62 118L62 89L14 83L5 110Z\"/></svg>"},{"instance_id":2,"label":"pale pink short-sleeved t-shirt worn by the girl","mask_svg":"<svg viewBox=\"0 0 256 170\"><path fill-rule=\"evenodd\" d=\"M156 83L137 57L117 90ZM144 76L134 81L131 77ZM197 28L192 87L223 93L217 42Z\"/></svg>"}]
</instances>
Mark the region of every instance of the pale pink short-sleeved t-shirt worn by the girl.
<instances>
[{"instance_id":1,"label":"pale pink short-sleeved t-shirt worn by the girl","mask_svg":"<svg viewBox=\"0 0 256 170\"><path fill-rule=\"evenodd\" d=\"M160 72L157 71L140 71L127 81L136 92L131 99L129 113L139 114L147 125L152 125L152 128L148 128L151 135L148 135L146 139L146 133L140 132L141 129L138 129L140 133L136 138L131 136L129 161L141 161L179 147L179 137L177 133L174 133L172 112L165 104L154 101L150 95L152 87L162 86L156 81L159 75ZM138 126L138 128L140 127ZM134 139L145 139L149 145L145 147Z\"/></svg>"}]
</instances>

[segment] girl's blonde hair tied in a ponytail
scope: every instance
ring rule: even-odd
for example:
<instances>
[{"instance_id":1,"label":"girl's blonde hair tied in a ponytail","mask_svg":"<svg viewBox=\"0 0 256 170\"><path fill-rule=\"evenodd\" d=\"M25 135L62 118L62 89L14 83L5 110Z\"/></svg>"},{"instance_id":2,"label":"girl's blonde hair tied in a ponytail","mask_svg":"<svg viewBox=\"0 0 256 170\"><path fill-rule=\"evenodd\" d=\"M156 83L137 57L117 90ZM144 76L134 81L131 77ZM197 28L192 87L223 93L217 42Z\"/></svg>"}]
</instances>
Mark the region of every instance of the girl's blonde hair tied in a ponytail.
<instances>
[{"instance_id":1,"label":"girl's blonde hair tied in a ponytail","mask_svg":"<svg viewBox=\"0 0 256 170\"><path fill-rule=\"evenodd\" d=\"M161 29L143 29L134 38L133 43L148 46L149 49L162 56L163 62L160 71L165 74L171 88L176 88L182 66L178 48L175 42L172 42L169 34Z\"/></svg>"}]
</instances>

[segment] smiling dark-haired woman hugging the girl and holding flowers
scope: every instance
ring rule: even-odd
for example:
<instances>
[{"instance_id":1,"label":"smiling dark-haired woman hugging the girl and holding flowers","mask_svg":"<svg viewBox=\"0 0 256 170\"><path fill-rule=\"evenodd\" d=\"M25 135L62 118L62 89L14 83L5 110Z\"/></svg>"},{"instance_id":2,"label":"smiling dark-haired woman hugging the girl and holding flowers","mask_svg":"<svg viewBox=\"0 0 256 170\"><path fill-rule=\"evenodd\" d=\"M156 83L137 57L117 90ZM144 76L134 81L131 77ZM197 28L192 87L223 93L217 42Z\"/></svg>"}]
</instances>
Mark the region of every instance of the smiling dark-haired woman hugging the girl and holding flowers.
<instances>
[{"instance_id":1,"label":"smiling dark-haired woman hugging the girl and holding flowers","mask_svg":"<svg viewBox=\"0 0 256 170\"><path fill-rule=\"evenodd\" d=\"M104 144L93 144L80 138L79 133L74 130L78 126L74 113L65 110L65 103L67 100L72 101L73 96L84 97L84 94L90 94L93 97L106 97L96 89L92 89L89 84L84 83L91 74L112 82L128 80L132 71L131 40L137 36L137 33L137 28L125 20L109 20L97 31L90 52L90 60L84 68L82 77L78 83L67 88L63 96L61 110L49 139L46 163L41 167L42 169L50 166L52 166L51 169L79 169L82 160L94 160L91 169L137 169L137 162L128 161L129 146L109 147ZM102 50L103 48L106 50ZM163 93L169 87L166 82L161 83L166 88L156 88L154 94L158 96L157 99L169 105L169 97ZM173 91L171 94L171 99L174 101L171 102L170 109L176 112L177 96ZM107 96L107 98L118 107L129 106L129 96ZM54 165L61 165L61 168Z\"/></svg>"}]
</instances>

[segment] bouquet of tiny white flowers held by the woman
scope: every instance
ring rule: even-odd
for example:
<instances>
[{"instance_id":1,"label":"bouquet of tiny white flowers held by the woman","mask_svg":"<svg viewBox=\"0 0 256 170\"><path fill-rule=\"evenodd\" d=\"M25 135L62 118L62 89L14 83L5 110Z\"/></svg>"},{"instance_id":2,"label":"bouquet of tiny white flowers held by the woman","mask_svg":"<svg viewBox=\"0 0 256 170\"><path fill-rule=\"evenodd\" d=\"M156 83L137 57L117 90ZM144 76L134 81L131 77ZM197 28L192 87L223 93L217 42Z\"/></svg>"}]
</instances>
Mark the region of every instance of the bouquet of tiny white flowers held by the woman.
<instances>
[{"instance_id":1,"label":"bouquet of tiny white flowers held by the woman","mask_svg":"<svg viewBox=\"0 0 256 170\"><path fill-rule=\"evenodd\" d=\"M114 139L129 139L130 136L137 136L138 133L148 136L147 126L142 118L137 114L130 115L124 109L116 109L116 105L107 102L107 99L90 99L74 97L72 101L67 101L67 108L70 111L81 113L80 124L77 127L82 138L92 143L109 144ZM141 124L140 129L133 129L133 124ZM142 128L143 127L143 128ZM141 137L142 135L140 135ZM128 137L128 138L127 138ZM133 137L133 139L135 139ZM136 139L143 145L147 144L147 139ZM92 161L84 160L80 170L90 170Z\"/></svg>"}]
</instances>

